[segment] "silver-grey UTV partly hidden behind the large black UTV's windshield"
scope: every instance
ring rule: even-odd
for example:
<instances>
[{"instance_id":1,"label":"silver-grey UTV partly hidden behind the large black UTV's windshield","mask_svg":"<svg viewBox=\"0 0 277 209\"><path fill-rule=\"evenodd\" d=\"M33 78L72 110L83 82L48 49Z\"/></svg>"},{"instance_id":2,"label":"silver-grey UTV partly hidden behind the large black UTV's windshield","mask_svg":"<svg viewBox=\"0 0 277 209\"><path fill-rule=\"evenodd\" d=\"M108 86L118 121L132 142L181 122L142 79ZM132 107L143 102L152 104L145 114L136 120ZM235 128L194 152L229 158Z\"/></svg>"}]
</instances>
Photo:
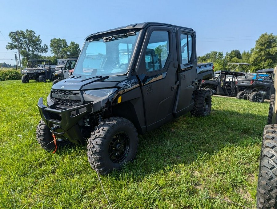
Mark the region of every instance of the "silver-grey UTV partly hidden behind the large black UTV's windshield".
<instances>
[{"instance_id":1,"label":"silver-grey UTV partly hidden behind the large black UTV's windshield","mask_svg":"<svg viewBox=\"0 0 277 209\"><path fill-rule=\"evenodd\" d=\"M59 82L60 80L69 78L69 76L71 75L69 71L74 69L77 59L78 57L74 57L65 60L62 69L55 71L53 74L53 85Z\"/></svg>"}]
</instances>

